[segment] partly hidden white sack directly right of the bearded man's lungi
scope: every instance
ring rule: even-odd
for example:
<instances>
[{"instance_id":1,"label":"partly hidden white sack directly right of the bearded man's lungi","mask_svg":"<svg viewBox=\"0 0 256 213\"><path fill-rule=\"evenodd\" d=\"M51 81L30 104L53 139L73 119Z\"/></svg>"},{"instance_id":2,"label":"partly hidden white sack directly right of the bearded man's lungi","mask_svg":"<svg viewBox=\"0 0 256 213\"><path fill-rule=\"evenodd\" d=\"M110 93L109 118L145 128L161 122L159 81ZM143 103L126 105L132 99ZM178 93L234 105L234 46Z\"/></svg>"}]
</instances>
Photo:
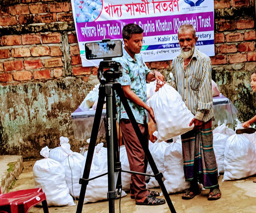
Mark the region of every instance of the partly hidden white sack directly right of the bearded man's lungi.
<instances>
[{"instance_id":1,"label":"partly hidden white sack directly right of the bearded man's lungi","mask_svg":"<svg viewBox=\"0 0 256 213\"><path fill-rule=\"evenodd\" d=\"M224 173L224 151L228 138L229 136L219 132L213 134L213 150L219 173Z\"/></svg>"}]
</instances>

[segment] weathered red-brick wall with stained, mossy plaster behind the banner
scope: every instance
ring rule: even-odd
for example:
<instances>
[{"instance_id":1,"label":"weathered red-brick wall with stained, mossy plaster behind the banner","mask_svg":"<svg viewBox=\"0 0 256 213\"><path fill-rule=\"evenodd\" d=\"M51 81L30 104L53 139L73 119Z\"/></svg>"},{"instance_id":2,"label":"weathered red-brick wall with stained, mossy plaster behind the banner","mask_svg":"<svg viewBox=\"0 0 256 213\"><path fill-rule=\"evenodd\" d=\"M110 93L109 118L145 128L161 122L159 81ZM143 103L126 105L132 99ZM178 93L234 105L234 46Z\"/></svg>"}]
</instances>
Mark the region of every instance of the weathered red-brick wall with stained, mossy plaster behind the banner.
<instances>
[{"instance_id":1,"label":"weathered red-brick wall with stained, mossy plaster behind the banner","mask_svg":"<svg viewBox=\"0 0 256 213\"><path fill-rule=\"evenodd\" d=\"M249 79L256 68L253 0L215 0L212 78L246 120L256 113ZM0 0L0 153L39 157L67 136L71 112L97 82L82 67L70 1ZM149 62L168 78L171 61Z\"/></svg>"}]
</instances>

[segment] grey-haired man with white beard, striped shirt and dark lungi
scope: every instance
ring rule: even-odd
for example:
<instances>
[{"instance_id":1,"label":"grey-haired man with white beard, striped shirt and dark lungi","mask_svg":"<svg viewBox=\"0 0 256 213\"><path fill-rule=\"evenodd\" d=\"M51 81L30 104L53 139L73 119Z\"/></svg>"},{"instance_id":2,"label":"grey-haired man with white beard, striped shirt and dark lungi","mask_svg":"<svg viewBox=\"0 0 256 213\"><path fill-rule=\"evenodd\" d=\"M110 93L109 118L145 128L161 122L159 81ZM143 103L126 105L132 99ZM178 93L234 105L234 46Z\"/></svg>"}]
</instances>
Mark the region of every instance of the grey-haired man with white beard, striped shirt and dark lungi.
<instances>
[{"instance_id":1,"label":"grey-haired man with white beard, striped shirt and dark lungi","mask_svg":"<svg viewBox=\"0 0 256 213\"><path fill-rule=\"evenodd\" d=\"M218 169L212 147L211 60L195 49L195 28L184 24L178 29L181 53L172 62L173 80L188 109L195 115L193 130L181 135L184 174L190 188L182 195L192 199L200 193L197 181L210 189L208 200L221 198Z\"/></svg>"}]
</instances>

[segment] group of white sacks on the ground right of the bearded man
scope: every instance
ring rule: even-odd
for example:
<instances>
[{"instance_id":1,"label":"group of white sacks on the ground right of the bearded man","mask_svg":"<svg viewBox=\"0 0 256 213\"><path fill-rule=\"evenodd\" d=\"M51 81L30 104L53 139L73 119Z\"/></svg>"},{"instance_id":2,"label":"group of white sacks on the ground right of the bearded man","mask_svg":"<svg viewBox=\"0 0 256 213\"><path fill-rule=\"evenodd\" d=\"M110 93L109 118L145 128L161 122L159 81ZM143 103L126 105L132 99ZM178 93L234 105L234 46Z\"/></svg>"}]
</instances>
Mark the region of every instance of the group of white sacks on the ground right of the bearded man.
<instances>
[{"instance_id":1,"label":"group of white sacks on the ground right of the bearded man","mask_svg":"<svg viewBox=\"0 0 256 213\"><path fill-rule=\"evenodd\" d=\"M241 129L238 123L236 129ZM213 148L223 181L256 174L256 134L236 134L222 124L213 130Z\"/></svg>"}]
</instances>

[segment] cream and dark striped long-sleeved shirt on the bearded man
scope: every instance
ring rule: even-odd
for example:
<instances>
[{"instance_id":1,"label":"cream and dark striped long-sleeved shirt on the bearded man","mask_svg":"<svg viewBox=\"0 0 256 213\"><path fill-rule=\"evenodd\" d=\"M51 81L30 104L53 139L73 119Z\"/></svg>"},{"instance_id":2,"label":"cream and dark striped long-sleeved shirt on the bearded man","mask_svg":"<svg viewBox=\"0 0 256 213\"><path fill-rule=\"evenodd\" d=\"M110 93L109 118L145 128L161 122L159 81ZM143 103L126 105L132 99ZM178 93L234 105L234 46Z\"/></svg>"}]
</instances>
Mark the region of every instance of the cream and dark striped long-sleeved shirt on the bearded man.
<instances>
[{"instance_id":1,"label":"cream and dark striped long-sleeved shirt on the bearded man","mask_svg":"<svg viewBox=\"0 0 256 213\"><path fill-rule=\"evenodd\" d=\"M195 118L204 122L212 119L210 57L195 49L184 70L184 59L179 54L173 59L172 72L177 91Z\"/></svg>"}]
</instances>

